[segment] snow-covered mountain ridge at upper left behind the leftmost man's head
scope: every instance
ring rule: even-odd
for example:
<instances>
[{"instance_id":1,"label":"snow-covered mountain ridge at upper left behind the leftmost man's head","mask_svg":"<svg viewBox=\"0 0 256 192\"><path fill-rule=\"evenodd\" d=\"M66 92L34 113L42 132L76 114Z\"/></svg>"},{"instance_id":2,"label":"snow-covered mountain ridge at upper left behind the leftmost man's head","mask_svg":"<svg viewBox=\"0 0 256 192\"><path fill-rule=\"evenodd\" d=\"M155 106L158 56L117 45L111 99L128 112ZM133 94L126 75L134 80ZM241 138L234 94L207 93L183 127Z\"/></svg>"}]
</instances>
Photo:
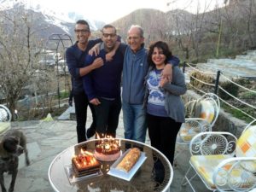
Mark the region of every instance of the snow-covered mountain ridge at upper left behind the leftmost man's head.
<instances>
[{"instance_id":1,"label":"snow-covered mountain ridge at upper left behind the leftmost man's head","mask_svg":"<svg viewBox=\"0 0 256 192\"><path fill-rule=\"evenodd\" d=\"M104 26L104 22L102 21L90 20L88 18L84 18L84 15L75 12L58 12L54 9L48 9L39 4L37 0L0 0L0 11L18 9L20 6L24 7L25 9L32 10L38 14L42 14L44 21L48 22L50 25L60 27L63 32L67 32L68 34L71 34L73 31L73 28L70 29L70 26L72 26L72 24L79 19L87 20L92 31Z\"/></svg>"}]
</instances>

